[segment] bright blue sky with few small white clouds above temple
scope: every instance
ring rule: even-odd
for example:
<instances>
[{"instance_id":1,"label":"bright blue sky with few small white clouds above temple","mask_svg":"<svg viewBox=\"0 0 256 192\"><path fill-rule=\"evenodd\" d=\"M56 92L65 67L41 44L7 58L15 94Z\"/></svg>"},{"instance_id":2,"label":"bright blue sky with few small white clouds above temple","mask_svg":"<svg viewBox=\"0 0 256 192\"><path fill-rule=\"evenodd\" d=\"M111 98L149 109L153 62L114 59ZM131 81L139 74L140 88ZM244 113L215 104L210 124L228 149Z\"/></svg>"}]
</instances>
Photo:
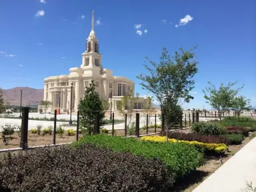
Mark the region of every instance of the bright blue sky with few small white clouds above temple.
<instances>
[{"instance_id":1,"label":"bright blue sky with few small white clouds above temple","mask_svg":"<svg viewBox=\"0 0 256 192\"><path fill-rule=\"evenodd\" d=\"M163 47L172 54L197 45L195 99L183 107L209 108L207 82L236 80L256 105L255 7L255 0L1 0L0 86L43 88L45 77L79 67L95 10L103 67L135 81L141 95L147 93L136 76L147 73L145 56L159 61Z\"/></svg>"}]
</instances>

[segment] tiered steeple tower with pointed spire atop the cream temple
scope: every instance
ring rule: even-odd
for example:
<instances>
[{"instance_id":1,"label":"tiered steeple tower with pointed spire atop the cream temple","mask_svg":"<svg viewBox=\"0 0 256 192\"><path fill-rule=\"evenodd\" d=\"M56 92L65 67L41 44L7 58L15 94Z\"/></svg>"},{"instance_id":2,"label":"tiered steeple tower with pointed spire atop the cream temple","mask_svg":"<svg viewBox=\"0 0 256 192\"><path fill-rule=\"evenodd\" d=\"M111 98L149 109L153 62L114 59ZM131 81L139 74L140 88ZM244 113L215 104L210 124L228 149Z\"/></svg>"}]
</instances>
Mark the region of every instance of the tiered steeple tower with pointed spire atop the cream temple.
<instances>
[{"instance_id":1,"label":"tiered steeple tower with pointed spire atop the cream temple","mask_svg":"<svg viewBox=\"0 0 256 192\"><path fill-rule=\"evenodd\" d=\"M89 37L87 38L86 50L85 50L85 53L82 54L82 57L83 57L83 64L81 65L81 67L95 66L95 67L100 67L102 69L101 54L99 54L98 39L94 31L94 11L91 15L91 32L89 34Z\"/></svg>"}]
</instances>

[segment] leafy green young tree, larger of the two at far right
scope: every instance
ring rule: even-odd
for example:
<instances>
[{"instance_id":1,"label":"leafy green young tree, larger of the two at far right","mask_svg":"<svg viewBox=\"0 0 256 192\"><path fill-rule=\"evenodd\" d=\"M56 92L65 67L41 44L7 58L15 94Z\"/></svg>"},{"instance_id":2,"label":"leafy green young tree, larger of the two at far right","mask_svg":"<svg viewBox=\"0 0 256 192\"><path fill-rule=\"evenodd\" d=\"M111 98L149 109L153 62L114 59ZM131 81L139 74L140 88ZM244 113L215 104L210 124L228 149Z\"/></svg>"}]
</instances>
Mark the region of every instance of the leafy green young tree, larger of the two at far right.
<instances>
[{"instance_id":1,"label":"leafy green young tree, larger of the two at far right","mask_svg":"<svg viewBox=\"0 0 256 192\"><path fill-rule=\"evenodd\" d=\"M221 83L219 89L217 89L211 82L208 82L208 84L208 87L203 89L204 97L207 100L206 103L209 103L211 107L218 111L219 120L221 121L221 114L229 111L233 107L233 101L237 93L243 89L243 86L233 89L232 87L237 84L237 82L229 82L227 86Z\"/></svg>"}]
</instances>

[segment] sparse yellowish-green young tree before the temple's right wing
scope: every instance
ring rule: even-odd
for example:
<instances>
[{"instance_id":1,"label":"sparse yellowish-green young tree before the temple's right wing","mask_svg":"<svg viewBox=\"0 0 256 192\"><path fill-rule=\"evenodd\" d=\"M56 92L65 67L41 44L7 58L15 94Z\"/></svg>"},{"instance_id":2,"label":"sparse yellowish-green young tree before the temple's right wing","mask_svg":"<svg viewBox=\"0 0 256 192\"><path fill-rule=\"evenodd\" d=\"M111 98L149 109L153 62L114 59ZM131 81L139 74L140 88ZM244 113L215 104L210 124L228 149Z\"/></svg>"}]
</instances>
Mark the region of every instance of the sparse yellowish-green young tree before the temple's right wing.
<instances>
[{"instance_id":1,"label":"sparse yellowish-green young tree before the temple's right wing","mask_svg":"<svg viewBox=\"0 0 256 192\"><path fill-rule=\"evenodd\" d=\"M119 103L118 111L123 116L123 119L125 119L125 113L127 114L127 127L129 127L135 114L134 108L138 101L139 93L136 93L136 95L133 96L132 91L130 91L126 96L122 97L121 102Z\"/></svg>"}]
</instances>

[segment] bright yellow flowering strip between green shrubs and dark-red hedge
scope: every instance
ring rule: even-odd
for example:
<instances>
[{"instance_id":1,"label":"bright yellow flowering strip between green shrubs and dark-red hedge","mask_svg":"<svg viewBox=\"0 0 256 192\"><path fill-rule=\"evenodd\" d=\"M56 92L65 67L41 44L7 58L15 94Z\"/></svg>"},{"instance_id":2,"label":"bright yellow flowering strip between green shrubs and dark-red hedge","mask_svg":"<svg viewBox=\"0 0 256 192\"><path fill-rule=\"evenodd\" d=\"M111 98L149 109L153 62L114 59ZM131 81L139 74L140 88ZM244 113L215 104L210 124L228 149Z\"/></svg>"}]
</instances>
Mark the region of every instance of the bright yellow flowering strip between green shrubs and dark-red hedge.
<instances>
[{"instance_id":1,"label":"bright yellow flowering strip between green shrubs and dark-red hedge","mask_svg":"<svg viewBox=\"0 0 256 192\"><path fill-rule=\"evenodd\" d=\"M166 142L166 137L161 136L145 136L141 137L142 141L154 141L157 143ZM169 143L186 143L189 145L193 145L200 151L205 151L205 153L218 153L223 154L227 150L227 145L224 143L201 143L198 141L184 141L184 140L178 140L178 139L169 139Z\"/></svg>"}]
</instances>

